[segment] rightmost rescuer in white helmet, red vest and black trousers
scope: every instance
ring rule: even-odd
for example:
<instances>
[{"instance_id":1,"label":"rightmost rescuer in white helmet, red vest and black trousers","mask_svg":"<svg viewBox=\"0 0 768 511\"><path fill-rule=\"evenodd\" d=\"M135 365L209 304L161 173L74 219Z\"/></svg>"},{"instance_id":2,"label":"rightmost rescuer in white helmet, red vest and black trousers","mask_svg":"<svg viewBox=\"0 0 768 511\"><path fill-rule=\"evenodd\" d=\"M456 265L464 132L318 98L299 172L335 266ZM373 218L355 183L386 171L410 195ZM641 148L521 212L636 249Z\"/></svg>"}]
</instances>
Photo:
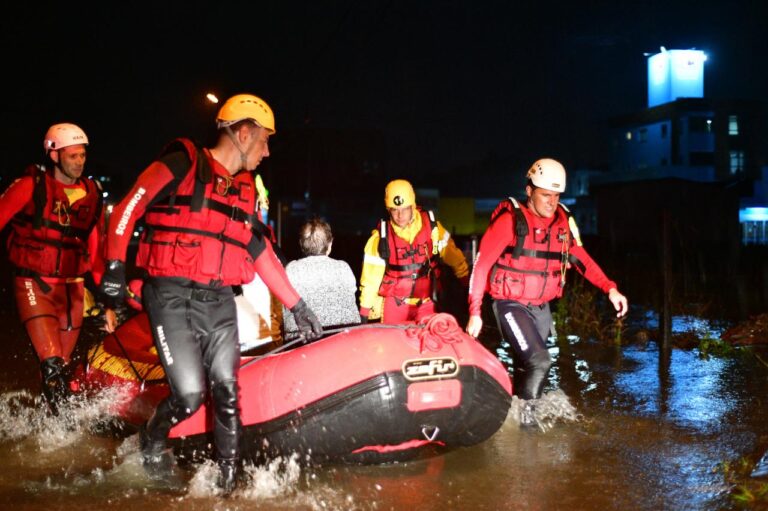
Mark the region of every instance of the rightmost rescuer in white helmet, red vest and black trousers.
<instances>
[{"instance_id":1,"label":"rightmost rescuer in white helmet, red vest and black trousers","mask_svg":"<svg viewBox=\"0 0 768 511\"><path fill-rule=\"evenodd\" d=\"M515 393L526 400L521 424L535 424L535 400L541 397L552 359L546 340L552 329L550 300L559 298L566 270L572 266L608 300L621 317L627 299L581 244L576 223L559 203L565 191L565 168L552 159L536 161L527 174L525 204L509 198L491 215L480 240L469 287L467 333L480 334L483 295L488 292L502 336L513 349L522 385Z\"/></svg>"}]
</instances>

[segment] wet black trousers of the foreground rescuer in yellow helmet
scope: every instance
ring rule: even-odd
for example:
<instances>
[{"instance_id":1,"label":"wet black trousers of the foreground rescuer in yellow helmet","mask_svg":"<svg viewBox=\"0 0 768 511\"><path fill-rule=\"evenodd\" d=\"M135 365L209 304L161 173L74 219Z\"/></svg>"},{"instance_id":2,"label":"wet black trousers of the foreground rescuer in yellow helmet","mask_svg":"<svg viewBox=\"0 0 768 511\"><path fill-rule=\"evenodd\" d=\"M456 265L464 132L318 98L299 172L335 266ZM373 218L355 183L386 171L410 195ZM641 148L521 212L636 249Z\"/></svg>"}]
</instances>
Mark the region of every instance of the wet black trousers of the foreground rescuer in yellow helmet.
<instances>
[{"instance_id":1,"label":"wet black trousers of the foreground rescuer in yellow helmet","mask_svg":"<svg viewBox=\"0 0 768 511\"><path fill-rule=\"evenodd\" d=\"M192 286L176 278L152 278L144 286L144 309L171 390L147 423L148 448L163 446L171 427L200 408L210 390L216 458L237 460L242 428L234 293Z\"/></svg>"}]
</instances>

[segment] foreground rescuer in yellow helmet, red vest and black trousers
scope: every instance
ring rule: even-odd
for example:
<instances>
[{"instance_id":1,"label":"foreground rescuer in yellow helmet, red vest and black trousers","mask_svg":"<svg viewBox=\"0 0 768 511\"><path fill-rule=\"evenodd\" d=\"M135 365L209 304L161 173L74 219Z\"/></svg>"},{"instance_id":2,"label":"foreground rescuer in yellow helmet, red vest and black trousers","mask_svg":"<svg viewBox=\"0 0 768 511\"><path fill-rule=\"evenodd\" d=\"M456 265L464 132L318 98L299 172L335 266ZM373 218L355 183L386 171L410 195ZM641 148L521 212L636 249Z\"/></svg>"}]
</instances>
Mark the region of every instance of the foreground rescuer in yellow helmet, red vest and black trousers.
<instances>
[{"instance_id":1,"label":"foreground rescuer in yellow helmet, red vest and black trousers","mask_svg":"<svg viewBox=\"0 0 768 511\"><path fill-rule=\"evenodd\" d=\"M322 327L290 286L268 240L254 229L252 171L269 156L272 109L261 98L239 94L222 105L217 126L212 148L188 139L171 142L114 208L101 288L115 300L124 297L126 250L134 224L144 217L136 264L148 273L143 305L171 388L140 432L144 465L150 472L162 468L171 427L192 415L210 392L218 485L229 494L237 484L241 437L232 286L251 281L255 271L280 293L307 340L319 337Z\"/></svg>"}]
</instances>

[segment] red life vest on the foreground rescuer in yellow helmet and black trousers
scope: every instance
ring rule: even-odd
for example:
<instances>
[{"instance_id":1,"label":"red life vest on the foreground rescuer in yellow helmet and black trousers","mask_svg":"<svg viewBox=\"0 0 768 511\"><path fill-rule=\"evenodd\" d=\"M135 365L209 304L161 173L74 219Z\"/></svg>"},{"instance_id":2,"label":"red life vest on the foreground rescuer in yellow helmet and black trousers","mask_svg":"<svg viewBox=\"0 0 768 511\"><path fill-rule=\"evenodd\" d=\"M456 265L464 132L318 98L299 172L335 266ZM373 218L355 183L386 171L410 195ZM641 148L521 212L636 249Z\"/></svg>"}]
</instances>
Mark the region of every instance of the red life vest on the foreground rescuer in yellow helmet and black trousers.
<instances>
[{"instance_id":1,"label":"red life vest on the foreground rescuer in yellow helmet and black trousers","mask_svg":"<svg viewBox=\"0 0 768 511\"><path fill-rule=\"evenodd\" d=\"M179 158L180 152L186 158ZM169 168L179 184L147 210L136 264L152 276L182 277L207 286L253 280L247 251L256 220L253 175L214 172L210 153L188 139L169 144L165 156L161 161L176 163Z\"/></svg>"}]
</instances>

